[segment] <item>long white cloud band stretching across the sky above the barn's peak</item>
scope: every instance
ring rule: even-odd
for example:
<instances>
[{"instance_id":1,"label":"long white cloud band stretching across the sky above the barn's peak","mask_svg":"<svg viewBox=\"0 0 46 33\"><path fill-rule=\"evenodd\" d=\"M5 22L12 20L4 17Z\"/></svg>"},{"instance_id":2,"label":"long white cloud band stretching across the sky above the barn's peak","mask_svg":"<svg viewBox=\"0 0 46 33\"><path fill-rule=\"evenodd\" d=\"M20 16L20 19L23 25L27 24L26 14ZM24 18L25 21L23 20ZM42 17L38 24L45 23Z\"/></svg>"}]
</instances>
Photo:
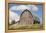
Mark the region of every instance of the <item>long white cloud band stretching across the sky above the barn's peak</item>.
<instances>
[{"instance_id":1,"label":"long white cloud band stretching across the sky above the barn's peak","mask_svg":"<svg viewBox=\"0 0 46 33\"><path fill-rule=\"evenodd\" d=\"M21 11L23 11L25 9L37 11L38 7L35 5L19 5L19 6L13 6L10 8L10 10L21 10Z\"/></svg>"}]
</instances>

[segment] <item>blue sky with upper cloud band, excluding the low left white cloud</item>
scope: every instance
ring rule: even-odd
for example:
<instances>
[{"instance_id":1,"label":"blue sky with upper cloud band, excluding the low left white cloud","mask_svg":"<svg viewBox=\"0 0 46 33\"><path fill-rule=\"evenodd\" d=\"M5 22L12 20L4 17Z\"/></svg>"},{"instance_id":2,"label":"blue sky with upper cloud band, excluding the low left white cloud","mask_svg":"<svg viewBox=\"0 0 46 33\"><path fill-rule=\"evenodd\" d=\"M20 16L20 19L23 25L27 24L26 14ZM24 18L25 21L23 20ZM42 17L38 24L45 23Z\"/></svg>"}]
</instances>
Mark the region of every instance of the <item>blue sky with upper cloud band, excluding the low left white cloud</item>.
<instances>
[{"instance_id":1,"label":"blue sky with upper cloud band, excluding the low left white cloud","mask_svg":"<svg viewBox=\"0 0 46 33\"><path fill-rule=\"evenodd\" d=\"M13 12L19 17L21 13L25 10L28 9L31 11L31 13L34 16L37 16L40 21L42 22L42 5L32 5L32 4L9 4L9 11ZM11 15L11 14L10 14Z\"/></svg>"}]
</instances>

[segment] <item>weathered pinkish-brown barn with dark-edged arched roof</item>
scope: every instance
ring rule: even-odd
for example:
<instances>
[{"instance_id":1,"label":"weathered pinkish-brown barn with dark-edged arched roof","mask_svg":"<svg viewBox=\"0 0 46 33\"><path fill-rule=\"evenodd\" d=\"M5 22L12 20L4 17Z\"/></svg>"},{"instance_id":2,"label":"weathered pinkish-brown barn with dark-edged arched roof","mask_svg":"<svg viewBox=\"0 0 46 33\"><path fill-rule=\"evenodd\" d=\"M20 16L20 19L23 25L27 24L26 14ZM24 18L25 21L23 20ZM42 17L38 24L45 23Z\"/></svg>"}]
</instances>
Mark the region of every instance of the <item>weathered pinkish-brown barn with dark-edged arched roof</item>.
<instances>
[{"instance_id":1,"label":"weathered pinkish-brown barn with dark-edged arched roof","mask_svg":"<svg viewBox=\"0 0 46 33\"><path fill-rule=\"evenodd\" d=\"M28 25L28 24L33 24L33 22L34 22L34 19L33 19L32 13L28 9L25 9L20 15L20 24Z\"/></svg>"}]
</instances>

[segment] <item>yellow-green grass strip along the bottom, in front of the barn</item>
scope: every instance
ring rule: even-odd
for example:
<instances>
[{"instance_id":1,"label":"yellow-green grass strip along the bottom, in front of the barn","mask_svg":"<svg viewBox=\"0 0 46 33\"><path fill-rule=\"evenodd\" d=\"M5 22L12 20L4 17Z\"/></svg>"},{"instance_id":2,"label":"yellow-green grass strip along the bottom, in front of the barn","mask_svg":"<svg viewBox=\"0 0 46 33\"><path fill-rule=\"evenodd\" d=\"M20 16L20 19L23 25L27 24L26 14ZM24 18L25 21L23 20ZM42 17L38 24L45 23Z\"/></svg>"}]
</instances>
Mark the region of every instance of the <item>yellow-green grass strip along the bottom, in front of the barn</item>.
<instances>
[{"instance_id":1,"label":"yellow-green grass strip along the bottom, in front of the barn","mask_svg":"<svg viewBox=\"0 0 46 33\"><path fill-rule=\"evenodd\" d=\"M29 29L33 29L33 30L37 30L37 29L41 29L42 27L39 25L39 24L33 24L33 25L31 25L31 24L28 24L28 25L16 25L15 26L15 24L12 26L9 26L9 29L10 30L23 30L23 29L27 29L27 30L29 30Z\"/></svg>"}]
</instances>

